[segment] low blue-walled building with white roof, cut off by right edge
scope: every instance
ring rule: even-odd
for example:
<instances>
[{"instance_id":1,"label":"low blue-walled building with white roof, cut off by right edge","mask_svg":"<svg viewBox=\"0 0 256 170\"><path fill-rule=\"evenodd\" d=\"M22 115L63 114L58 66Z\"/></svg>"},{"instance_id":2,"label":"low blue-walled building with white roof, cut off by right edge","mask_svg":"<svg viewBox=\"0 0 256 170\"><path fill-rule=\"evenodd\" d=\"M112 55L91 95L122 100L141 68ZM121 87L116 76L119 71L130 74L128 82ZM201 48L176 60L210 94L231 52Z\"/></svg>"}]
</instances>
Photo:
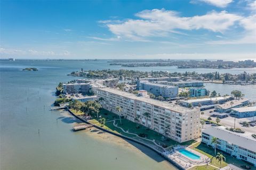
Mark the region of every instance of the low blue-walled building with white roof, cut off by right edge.
<instances>
[{"instance_id":1,"label":"low blue-walled building with white roof, cut off by right edge","mask_svg":"<svg viewBox=\"0 0 256 170\"><path fill-rule=\"evenodd\" d=\"M231 109L230 114L235 115L238 118L253 117L256 116L256 106L233 108Z\"/></svg>"}]
</instances>

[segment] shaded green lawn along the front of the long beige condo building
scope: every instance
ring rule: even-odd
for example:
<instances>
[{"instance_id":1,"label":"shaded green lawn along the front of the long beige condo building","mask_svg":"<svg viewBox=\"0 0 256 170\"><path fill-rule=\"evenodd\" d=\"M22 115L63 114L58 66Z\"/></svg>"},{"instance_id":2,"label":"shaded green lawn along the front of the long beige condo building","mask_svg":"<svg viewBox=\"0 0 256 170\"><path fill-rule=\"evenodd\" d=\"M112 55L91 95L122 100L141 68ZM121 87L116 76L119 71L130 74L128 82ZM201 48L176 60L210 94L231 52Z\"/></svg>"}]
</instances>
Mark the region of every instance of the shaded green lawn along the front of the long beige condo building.
<instances>
[{"instance_id":1,"label":"shaded green lawn along the front of the long beige condo building","mask_svg":"<svg viewBox=\"0 0 256 170\"><path fill-rule=\"evenodd\" d=\"M149 140L155 140L156 143L160 144L160 145L167 145L168 147L172 146L172 145L175 145L175 144L180 144L176 141L173 141L171 139L168 139L168 140L164 140L163 141L163 135L162 134L159 134L151 129L148 129L146 128L145 126L142 126L140 125L139 128L136 128L136 123L133 123L131 122L130 120L127 120L127 119L122 119L122 125L121 123L119 122L119 116L110 112L110 111L107 111L105 109L101 109L100 112L99 112L99 116L101 115L101 117L103 118L106 118L106 123L105 123L105 126L104 128L106 129L110 129L111 131L113 132L116 132L116 133L119 133L119 134L123 134L123 135L126 135L126 136L129 136L129 137L134 137L135 139L140 139L139 137L136 137L135 135L132 135L132 134L127 134L127 133L124 133L120 128L117 128L113 125L113 122L109 122L111 120L115 120L116 119L116 124L119 126L119 127L122 127L124 129L125 132L130 132L130 133L134 133L134 134L137 134L139 135L140 133L141 134L147 134L147 139ZM99 119L95 118L95 119L92 119L90 120L91 123L94 123L94 124L98 124ZM151 143L147 140L145 140L145 142L147 143ZM191 140L191 141L188 141L188 142L183 142L181 144L183 145L190 145L191 143L194 143L195 141L194 140ZM151 143L152 144L152 143Z\"/></svg>"}]
</instances>

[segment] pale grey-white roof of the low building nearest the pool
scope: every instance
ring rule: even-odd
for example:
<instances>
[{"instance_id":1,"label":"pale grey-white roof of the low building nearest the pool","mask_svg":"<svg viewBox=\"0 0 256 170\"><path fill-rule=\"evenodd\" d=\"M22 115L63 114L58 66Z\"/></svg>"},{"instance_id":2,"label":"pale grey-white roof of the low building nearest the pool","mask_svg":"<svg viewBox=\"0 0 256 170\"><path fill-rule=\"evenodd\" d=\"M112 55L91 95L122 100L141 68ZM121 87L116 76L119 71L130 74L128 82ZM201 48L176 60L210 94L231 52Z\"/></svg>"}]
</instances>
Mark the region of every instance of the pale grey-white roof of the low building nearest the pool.
<instances>
[{"instance_id":1,"label":"pale grey-white roof of the low building nearest the pool","mask_svg":"<svg viewBox=\"0 0 256 170\"><path fill-rule=\"evenodd\" d=\"M226 130L223 127L208 127L203 130L203 133L212 135L221 140L231 142L233 144L238 145L239 147L243 147L245 149L249 149L251 151L256 152L256 140L252 137L245 136L241 133L231 132Z\"/></svg>"}]
</instances>

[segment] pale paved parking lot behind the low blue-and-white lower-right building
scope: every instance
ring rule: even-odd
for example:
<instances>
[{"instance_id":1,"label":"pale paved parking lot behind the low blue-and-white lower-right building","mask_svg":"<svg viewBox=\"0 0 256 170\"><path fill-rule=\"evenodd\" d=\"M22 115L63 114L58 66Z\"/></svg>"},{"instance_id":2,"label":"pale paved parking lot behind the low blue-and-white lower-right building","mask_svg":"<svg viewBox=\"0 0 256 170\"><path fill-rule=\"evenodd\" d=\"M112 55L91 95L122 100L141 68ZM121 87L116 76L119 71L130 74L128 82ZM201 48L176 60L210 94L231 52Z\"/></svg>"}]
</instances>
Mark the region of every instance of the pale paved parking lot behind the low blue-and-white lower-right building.
<instances>
[{"instance_id":1,"label":"pale paved parking lot behind the low blue-and-white lower-right building","mask_svg":"<svg viewBox=\"0 0 256 170\"><path fill-rule=\"evenodd\" d=\"M213 112L210 113L210 111L213 111L213 110L214 109L204 110L203 111L204 115L201 115L201 117L204 118L204 119L207 119L207 118L211 117L210 115L212 115ZM216 117L211 117L211 118L212 118L213 121L216 119ZM250 118L236 118L236 121L235 121L234 117L229 116L229 117L220 119L220 124L222 124L223 126L226 126L226 127L234 127L234 125L235 125L236 128L241 128L246 132L256 134L256 126L254 126L254 127L252 127L252 126L244 127L241 124L239 124L239 122L244 122L244 121L250 122L252 120L253 120L253 117L250 117ZM254 120L256 120L256 116L254 116ZM211 126L211 125L205 124L204 128L206 128L207 126Z\"/></svg>"}]
</instances>

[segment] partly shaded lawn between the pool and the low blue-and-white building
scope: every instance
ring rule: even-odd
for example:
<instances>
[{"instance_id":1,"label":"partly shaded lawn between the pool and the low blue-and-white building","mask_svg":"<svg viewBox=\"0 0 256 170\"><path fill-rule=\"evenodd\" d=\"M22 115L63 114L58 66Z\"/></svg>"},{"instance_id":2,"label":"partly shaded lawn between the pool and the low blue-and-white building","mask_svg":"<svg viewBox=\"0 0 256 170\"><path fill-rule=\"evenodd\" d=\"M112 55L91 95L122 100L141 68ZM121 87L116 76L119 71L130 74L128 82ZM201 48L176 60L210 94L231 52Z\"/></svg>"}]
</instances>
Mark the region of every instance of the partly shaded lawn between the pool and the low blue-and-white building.
<instances>
[{"instance_id":1,"label":"partly shaded lawn between the pool and the low blue-and-white building","mask_svg":"<svg viewBox=\"0 0 256 170\"><path fill-rule=\"evenodd\" d=\"M191 146L190 148L194 149L194 150L206 155L210 159L212 159L212 161L210 163L211 165L216 166L216 167L220 167L220 163L214 157L214 149L212 147L207 147L207 145L204 144L204 143L196 143L195 145ZM216 153L218 153L218 152L222 152L222 151L217 150ZM241 168L241 165L248 165L250 167L253 167L252 165L249 165L249 164L245 163L242 160L231 157L230 155L228 155L225 152L222 152L222 154L223 154L223 156L225 156L226 161L221 163L221 167L225 167L228 164L233 164L233 165L235 165L239 168Z\"/></svg>"}]
</instances>

